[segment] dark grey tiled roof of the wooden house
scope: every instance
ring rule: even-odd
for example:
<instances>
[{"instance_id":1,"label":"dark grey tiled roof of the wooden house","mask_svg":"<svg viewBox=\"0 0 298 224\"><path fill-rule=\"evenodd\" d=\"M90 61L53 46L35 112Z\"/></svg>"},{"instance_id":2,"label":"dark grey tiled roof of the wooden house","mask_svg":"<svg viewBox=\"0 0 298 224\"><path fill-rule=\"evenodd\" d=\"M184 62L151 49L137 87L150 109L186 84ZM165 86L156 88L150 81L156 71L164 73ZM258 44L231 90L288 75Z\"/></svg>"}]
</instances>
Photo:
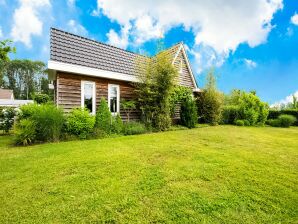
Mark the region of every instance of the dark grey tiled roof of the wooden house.
<instances>
[{"instance_id":1,"label":"dark grey tiled roof of the wooden house","mask_svg":"<svg viewBox=\"0 0 298 224\"><path fill-rule=\"evenodd\" d=\"M166 51L174 55L177 46L174 45ZM50 59L53 61L134 75L137 57L146 58L121 48L51 28Z\"/></svg>"}]
</instances>

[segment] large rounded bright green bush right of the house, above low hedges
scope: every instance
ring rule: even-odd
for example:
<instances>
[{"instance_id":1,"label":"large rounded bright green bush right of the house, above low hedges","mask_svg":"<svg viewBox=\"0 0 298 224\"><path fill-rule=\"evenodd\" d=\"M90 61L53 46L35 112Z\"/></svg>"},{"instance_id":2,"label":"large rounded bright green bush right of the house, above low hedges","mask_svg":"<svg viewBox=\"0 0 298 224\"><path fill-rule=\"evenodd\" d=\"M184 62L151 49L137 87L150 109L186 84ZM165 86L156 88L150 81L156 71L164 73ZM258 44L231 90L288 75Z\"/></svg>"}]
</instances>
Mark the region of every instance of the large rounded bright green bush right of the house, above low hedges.
<instances>
[{"instance_id":1,"label":"large rounded bright green bush right of the house, above low hedges","mask_svg":"<svg viewBox=\"0 0 298 224\"><path fill-rule=\"evenodd\" d=\"M263 125L267 120L269 113L269 107L266 103L262 102L254 91L245 92L241 90L233 90L232 93L227 97L228 107L231 115L227 115L228 110L224 112L223 122L232 121L233 115L236 119L247 120L250 125ZM231 110L231 108L233 108ZM237 109L236 109L237 108ZM237 111L237 112L236 112ZM227 119L229 117L229 119ZM234 121L235 121L234 120Z\"/></svg>"}]
</instances>

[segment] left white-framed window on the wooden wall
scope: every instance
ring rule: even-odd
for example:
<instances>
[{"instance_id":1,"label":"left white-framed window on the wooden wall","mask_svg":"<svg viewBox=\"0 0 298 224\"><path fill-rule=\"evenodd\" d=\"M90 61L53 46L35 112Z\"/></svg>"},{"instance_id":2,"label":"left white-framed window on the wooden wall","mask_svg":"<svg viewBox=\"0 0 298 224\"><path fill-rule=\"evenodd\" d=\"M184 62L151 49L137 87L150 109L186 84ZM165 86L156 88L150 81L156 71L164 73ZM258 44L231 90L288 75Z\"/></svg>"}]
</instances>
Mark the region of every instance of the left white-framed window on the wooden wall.
<instances>
[{"instance_id":1,"label":"left white-framed window on the wooden wall","mask_svg":"<svg viewBox=\"0 0 298 224\"><path fill-rule=\"evenodd\" d=\"M95 114L95 82L81 82L81 106L87 108L91 114Z\"/></svg>"}]
</instances>

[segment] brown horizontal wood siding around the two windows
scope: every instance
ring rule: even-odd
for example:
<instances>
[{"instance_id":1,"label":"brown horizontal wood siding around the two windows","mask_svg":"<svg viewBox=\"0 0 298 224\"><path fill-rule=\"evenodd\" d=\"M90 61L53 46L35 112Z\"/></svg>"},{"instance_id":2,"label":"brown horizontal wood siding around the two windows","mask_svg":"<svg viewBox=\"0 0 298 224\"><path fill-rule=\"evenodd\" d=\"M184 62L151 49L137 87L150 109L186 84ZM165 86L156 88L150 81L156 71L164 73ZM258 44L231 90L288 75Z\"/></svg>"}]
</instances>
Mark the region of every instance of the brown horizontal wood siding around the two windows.
<instances>
[{"instance_id":1,"label":"brown horizontal wood siding around the two windows","mask_svg":"<svg viewBox=\"0 0 298 224\"><path fill-rule=\"evenodd\" d=\"M116 81L110 79L94 78L70 73L61 73L57 75L57 104L65 112L70 112L73 108L81 107L81 81L94 81L96 86L96 108L99 106L100 99L104 97L108 100L108 84L116 84L120 87L120 100L134 100L134 87L129 82ZM126 120L125 112L120 108L120 115ZM140 119L140 111L134 110L130 114L131 120Z\"/></svg>"}]
</instances>

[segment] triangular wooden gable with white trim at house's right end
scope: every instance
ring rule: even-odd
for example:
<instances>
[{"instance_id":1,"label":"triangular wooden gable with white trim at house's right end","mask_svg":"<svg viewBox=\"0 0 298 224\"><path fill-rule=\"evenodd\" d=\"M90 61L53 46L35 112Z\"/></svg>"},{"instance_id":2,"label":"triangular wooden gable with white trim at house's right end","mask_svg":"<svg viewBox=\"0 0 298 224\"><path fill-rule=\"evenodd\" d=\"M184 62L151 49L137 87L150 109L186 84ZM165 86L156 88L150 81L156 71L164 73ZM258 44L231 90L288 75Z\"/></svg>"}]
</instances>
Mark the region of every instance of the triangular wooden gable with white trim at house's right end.
<instances>
[{"instance_id":1,"label":"triangular wooden gable with white trim at house's right end","mask_svg":"<svg viewBox=\"0 0 298 224\"><path fill-rule=\"evenodd\" d=\"M172 64L177 67L178 71L181 63L183 70L182 73L179 73L180 84L198 89L183 43L179 44L172 61Z\"/></svg>"}]
</instances>

